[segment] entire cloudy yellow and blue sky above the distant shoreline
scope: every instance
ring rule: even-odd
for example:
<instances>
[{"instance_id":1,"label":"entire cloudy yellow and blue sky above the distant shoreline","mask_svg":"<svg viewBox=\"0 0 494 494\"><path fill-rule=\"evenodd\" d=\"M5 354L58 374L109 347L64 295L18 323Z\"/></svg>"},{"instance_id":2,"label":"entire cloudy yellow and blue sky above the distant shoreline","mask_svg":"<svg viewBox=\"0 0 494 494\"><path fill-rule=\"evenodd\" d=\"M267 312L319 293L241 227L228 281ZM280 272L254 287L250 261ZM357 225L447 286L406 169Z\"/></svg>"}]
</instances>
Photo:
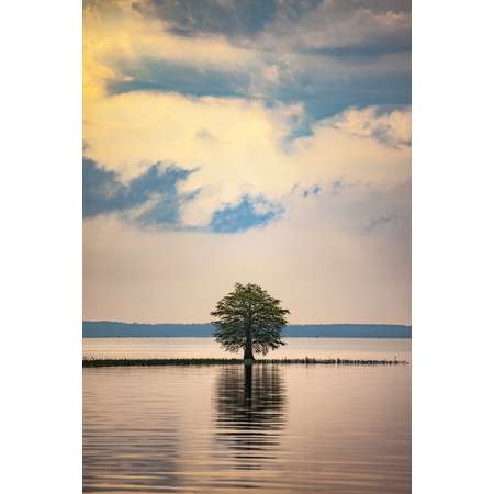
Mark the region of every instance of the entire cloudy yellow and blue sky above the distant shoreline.
<instances>
[{"instance_id":1,"label":"entire cloudy yellow and blue sky above the distant shoreline","mask_svg":"<svg viewBox=\"0 0 494 494\"><path fill-rule=\"evenodd\" d=\"M83 318L411 324L411 3L87 0Z\"/></svg>"}]
</instances>

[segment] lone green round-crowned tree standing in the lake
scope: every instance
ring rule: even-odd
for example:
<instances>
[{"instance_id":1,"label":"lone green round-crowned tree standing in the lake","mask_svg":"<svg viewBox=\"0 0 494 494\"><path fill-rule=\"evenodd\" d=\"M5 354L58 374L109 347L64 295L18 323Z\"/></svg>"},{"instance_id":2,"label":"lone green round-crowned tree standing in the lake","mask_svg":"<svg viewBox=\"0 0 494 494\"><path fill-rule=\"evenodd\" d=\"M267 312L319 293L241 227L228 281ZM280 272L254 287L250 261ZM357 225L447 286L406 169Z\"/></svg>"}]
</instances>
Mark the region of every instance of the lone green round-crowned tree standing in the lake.
<instances>
[{"instance_id":1,"label":"lone green round-crowned tree standing in the lake","mask_svg":"<svg viewBox=\"0 0 494 494\"><path fill-rule=\"evenodd\" d=\"M244 349L244 359L254 360L254 352L266 355L284 345L281 329L290 311L280 306L259 285L235 284L235 290L224 296L211 313L215 326L214 337L223 348L237 352Z\"/></svg>"}]
</instances>

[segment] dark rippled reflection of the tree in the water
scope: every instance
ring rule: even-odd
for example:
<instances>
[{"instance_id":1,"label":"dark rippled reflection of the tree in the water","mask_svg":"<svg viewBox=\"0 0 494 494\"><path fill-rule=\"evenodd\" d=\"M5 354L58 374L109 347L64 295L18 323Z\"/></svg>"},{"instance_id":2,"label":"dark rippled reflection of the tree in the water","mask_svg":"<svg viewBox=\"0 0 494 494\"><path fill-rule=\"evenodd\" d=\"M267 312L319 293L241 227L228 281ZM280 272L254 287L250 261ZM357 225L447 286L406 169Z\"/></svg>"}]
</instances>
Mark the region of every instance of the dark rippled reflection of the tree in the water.
<instances>
[{"instance_id":1,"label":"dark rippled reflection of the tree in the water","mask_svg":"<svg viewBox=\"0 0 494 494\"><path fill-rule=\"evenodd\" d=\"M236 469L260 470L276 459L284 426L285 388L277 366L228 366L216 383L216 436Z\"/></svg>"}]
</instances>

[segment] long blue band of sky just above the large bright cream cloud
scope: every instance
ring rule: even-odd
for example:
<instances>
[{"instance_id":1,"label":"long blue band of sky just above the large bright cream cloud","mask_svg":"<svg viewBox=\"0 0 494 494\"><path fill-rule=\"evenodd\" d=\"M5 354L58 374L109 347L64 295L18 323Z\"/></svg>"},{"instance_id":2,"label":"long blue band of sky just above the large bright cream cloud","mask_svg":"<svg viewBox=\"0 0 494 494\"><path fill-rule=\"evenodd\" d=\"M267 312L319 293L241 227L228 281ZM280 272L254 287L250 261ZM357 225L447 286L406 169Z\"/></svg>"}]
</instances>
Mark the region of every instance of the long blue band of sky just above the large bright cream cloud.
<instances>
[{"instance_id":1,"label":"long blue band of sky just above the large bright cream cloud","mask_svg":"<svg viewBox=\"0 0 494 494\"><path fill-rule=\"evenodd\" d=\"M245 98L256 87L257 74L228 74L167 64L158 59L142 60L139 69L119 64L126 80L113 82L110 93L133 91L179 92L188 97ZM310 135L311 123L334 116L349 106L405 105L412 101L409 74L370 76L366 71L351 78L302 71L282 83L256 90L251 96L266 106L280 102L303 103L305 126L295 126L293 137Z\"/></svg>"}]
</instances>

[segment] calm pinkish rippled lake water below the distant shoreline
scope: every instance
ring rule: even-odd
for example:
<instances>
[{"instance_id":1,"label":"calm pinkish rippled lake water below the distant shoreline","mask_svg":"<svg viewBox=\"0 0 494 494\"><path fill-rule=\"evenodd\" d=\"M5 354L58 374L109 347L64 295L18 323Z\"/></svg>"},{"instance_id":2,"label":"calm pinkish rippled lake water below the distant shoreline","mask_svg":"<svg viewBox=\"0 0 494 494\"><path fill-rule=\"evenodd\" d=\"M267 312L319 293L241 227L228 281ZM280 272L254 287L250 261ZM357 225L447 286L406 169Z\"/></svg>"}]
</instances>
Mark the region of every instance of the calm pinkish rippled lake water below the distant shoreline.
<instances>
[{"instance_id":1,"label":"calm pinkish rippled lake water below the distant shoreline","mask_svg":"<svg viewBox=\"0 0 494 494\"><path fill-rule=\"evenodd\" d=\"M114 339L85 355L213 350ZM283 355L411 360L409 340L293 339ZM411 366L83 369L83 490L409 493Z\"/></svg>"}]
</instances>

